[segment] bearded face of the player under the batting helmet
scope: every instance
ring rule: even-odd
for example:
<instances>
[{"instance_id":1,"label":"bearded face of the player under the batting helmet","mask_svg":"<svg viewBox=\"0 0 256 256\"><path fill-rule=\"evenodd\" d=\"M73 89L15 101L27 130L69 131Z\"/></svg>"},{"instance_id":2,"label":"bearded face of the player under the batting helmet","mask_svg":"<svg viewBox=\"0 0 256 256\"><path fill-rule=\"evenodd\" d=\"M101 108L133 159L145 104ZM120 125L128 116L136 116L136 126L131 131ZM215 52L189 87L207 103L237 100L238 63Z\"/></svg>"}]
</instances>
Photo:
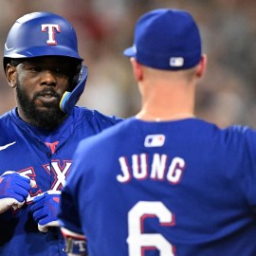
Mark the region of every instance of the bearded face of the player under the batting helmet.
<instances>
[{"instance_id":1,"label":"bearded face of the player under the batting helmet","mask_svg":"<svg viewBox=\"0 0 256 256\"><path fill-rule=\"evenodd\" d=\"M65 118L59 104L69 90L74 68L63 57L40 57L18 64L15 69L20 117L34 126L54 129Z\"/></svg>"}]
</instances>

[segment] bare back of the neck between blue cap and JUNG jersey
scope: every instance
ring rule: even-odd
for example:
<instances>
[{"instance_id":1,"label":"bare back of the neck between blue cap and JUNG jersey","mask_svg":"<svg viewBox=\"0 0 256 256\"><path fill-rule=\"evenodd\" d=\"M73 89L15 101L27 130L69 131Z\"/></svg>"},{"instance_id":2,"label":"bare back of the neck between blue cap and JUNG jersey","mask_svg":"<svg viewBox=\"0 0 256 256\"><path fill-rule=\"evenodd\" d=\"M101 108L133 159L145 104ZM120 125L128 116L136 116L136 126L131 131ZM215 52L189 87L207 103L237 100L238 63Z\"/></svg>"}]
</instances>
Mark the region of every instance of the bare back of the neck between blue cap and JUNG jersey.
<instances>
[{"instance_id":1,"label":"bare back of the neck between blue cap and JUNG jersey","mask_svg":"<svg viewBox=\"0 0 256 256\"><path fill-rule=\"evenodd\" d=\"M194 82L183 80L140 84L142 106L137 119L161 121L194 118L194 87Z\"/></svg>"}]
</instances>

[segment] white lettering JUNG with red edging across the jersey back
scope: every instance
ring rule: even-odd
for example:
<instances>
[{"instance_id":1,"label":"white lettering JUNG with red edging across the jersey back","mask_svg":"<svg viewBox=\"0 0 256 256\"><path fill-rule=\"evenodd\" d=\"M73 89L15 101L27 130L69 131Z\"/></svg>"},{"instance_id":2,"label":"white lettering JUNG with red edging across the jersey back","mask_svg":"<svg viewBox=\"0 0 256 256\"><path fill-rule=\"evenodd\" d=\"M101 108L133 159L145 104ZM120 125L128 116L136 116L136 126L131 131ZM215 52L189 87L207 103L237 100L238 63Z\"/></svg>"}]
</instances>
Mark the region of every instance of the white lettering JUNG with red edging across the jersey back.
<instances>
[{"instance_id":1,"label":"white lettering JUNG with red edging across the jersey back","mask_svg":"<svg viewBox=\"0 0 256 256\"><path fill-rule=\"evenodd\" d=\"M149 157L146 154L132 155L131 164L127 157L119 157L121 174L117 175L120 183L129 182L132 177L138 180L150 178L163 181L167 179L172 184L180 182L185 170L185 160L181 157L174 157L168 163L168 156L154 154L150 165Z\"/></svg>"}]
</instances>

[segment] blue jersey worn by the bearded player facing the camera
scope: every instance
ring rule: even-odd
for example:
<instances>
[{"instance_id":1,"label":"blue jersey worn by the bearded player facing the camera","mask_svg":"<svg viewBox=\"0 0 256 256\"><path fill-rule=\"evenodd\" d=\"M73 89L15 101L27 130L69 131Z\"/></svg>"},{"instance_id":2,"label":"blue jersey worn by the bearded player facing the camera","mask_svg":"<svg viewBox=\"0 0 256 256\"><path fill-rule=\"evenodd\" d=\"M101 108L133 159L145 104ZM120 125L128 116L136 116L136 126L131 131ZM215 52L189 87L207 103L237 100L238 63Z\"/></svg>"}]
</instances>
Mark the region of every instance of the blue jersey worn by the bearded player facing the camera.
<instances>
[{"instance_id":1,"label":"blue jersey worn by the bearded player facing the camera","mask_svg":"<svg viewBox=\"0 0 256 256\"><path fill-rule=\"evenodd\" d=\"M31 201L39 193L62 190L82 138L96 135L121 119L75 107L64 124L46 133L19 119L16 111L0 118L0 175L6 171L23 173L35 180L37 187L31 189L23 208L0 214L0 255L66 255L59 229L51 228L46 233L38 230L29 212Z\"/></svg>"}]
</instances>

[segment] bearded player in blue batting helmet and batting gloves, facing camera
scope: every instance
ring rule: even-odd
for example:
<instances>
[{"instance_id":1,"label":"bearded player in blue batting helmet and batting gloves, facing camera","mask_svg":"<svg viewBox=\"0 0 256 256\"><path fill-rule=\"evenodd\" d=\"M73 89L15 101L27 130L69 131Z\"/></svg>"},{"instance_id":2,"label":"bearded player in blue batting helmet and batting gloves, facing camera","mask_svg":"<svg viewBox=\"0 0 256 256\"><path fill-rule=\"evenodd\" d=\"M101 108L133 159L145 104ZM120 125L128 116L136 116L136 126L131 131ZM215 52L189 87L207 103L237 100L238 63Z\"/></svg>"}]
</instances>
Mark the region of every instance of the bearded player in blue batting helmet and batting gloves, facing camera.
<instances>
[{"instance_id":1,"label":"bearded player in blue batting helmet and batting gloves, facing camera","mask_svg":"<svg viewBox=\"0 0 256 256\"><path fill-rule=\"evenodd\" d=\"M121 119L77 107L87 78L74 28L33 12L9 30L4 70L17 107L0 117L0 255L66 255L60 193L84 137Z\"/></svg>"}]
</instances>

